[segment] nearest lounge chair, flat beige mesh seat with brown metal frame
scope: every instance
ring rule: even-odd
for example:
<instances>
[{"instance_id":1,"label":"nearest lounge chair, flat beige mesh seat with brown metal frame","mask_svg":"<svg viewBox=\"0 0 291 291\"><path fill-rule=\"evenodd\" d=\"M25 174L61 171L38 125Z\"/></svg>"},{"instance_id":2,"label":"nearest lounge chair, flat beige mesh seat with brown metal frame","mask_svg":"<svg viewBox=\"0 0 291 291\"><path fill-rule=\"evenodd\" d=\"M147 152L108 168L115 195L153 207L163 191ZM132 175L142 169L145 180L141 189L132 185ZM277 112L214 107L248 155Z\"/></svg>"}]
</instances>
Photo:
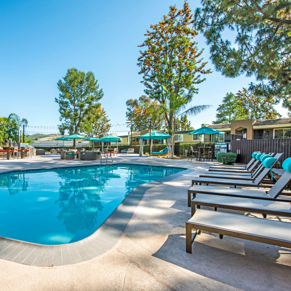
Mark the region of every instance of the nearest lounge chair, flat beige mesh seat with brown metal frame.
<instances>
[{"instance_id":1,"label":"nearest lounge chair, flat beige mesh seat with brown metal frame","mask_svg":"<svg viewBox=\"0 0 291 291\"><path fill-rule=\"evenodd\" d=\"M192 228L196 233L192 235ZM186 252L201 230L291 248L291 223L198 209L186 222Z\"/></svg>"}]
</instances>

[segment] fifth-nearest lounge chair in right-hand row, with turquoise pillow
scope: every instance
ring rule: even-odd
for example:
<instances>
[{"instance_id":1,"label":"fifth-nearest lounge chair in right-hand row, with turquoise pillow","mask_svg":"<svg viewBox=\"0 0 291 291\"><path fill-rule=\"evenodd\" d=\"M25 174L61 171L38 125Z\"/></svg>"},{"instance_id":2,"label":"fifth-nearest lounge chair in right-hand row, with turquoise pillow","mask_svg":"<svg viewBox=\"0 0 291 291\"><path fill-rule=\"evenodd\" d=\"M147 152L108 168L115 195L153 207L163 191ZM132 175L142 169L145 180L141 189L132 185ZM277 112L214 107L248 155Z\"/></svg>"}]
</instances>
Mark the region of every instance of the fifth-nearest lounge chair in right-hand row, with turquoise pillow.
<instances>
[{"instance_id":1,"label":"fifth-nearest lounge chair in right-hand row, with turquoise pillow","mask_svg":"<svg viewBox=\"0 0 291 291\"><path fill-rule=\"evenodd\" d=\"M282 154L276 154L275 158L279 159L281 157ZM270 155L262 155L260 157L260 161L263 162L264 159L267 159L271 157ZM245 175L239 175L239 173L232 173L232 172L215 172L215 173L204 173L199 175L199 177L202 178L218 178L218 179L236 179L236 180L255 180L258 175L264 171L265 167L263 166L263 164L261 164L253 173L249 173L249 175L247 175L247 173L240 173L240 174L245 174ZM265 170L267 172L267 170ZM221 174L219 174L221 173ZM266 173L266 175L268 174L268 172Z\"/></svg>"}]
</instances>

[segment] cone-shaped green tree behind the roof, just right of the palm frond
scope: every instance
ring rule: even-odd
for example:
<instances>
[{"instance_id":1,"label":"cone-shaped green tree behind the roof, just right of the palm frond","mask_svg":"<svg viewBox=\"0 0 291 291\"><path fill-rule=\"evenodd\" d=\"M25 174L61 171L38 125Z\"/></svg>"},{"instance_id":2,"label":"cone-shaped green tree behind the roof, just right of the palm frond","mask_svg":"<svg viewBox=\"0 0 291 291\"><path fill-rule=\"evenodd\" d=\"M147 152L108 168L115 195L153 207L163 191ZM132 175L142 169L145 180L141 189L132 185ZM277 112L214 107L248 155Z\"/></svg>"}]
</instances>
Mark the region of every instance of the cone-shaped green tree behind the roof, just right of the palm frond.
<instances>
[{"instance_id":1,"label":"cone-shaped green tree behind the roof, just right of the palm frond","mask_svg":"<svg viewBox=\"0 0 291 291\"><path fill-rule=\"evenodd\" d=\"M244 119L244 109L239 106L235 95L230 92L223 97L222 104L216 109L216 120L212 124L230 123L232 120Z\"/></svg>"}]
</instances>

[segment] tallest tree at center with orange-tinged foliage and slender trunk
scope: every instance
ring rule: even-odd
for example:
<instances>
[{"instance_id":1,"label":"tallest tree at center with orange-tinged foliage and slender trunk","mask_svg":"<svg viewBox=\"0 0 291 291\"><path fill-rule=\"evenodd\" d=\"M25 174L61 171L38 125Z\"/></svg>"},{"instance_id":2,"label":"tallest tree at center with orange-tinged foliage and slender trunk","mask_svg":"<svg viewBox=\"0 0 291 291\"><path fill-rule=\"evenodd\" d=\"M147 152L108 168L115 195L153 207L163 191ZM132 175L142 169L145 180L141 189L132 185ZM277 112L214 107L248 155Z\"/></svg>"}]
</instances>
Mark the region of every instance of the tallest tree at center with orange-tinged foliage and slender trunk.
<instances>
[{"instance_id":1,"label":"tallest tree at center with orange-tinged foliage and slender trunk","mask_svg":"<svg viewBox=\"0 0 291 291\"><path fill-rule=\"evenodd\" d=\"M195 86L205 81L201 75L211 72L204 69L207 62L199 59L203 50L198 51L197 42L192 40L198 33L189 27L191 18L187 2L181 10L171 6L159 24L150 26L145 34L147 38L139 45L144 48L137 64L139 74L143 75L141 83L145 85L145 93L160 104L184 94L193 97L198 93ZM165 118L174 140L173 111L165 111Z\"/></svg>"}]
</instances>

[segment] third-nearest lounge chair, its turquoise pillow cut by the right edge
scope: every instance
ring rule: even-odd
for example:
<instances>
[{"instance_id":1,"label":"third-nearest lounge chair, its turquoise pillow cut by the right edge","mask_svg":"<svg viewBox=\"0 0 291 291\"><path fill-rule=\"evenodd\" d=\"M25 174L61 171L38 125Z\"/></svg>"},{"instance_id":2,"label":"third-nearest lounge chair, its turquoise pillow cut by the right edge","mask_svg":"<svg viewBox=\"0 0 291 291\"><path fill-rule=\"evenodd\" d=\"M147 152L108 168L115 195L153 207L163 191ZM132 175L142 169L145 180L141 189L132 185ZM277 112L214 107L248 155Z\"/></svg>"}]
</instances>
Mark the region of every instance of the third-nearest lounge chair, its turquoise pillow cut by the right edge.
<instances>
[{"instance_id":1,"label":"third-nearest lounge chair, its turquoise pillow cut by the right edge","mask_svg":"<svg viewBox=\"0 0 291 291\"><path fill-rule=\"evenodd\" d=\"M287 161L287 162L285 162ZM254 199L264 199L264 200L276 200L276 201L289 201L286 199L278 198L278 196L283 195L282 191L286 189L287 185L291 181L291 167L287 164L290 163L291 158L286 159L282 166L284 165L285 172L276 181L276 183L267 192L262 190L253 189L234 189L227 187L215 187L215 186L204 186L204 185L193 185L188 190L188 206L191 206L191 199L196 197L196 194L210 194L210 195L222 195L231 197L243 197L243 198L254 198ZM284 193L288 195L288 193ZM192 197L191 197L192 196Z\"/></svg>"}]
</instances>

